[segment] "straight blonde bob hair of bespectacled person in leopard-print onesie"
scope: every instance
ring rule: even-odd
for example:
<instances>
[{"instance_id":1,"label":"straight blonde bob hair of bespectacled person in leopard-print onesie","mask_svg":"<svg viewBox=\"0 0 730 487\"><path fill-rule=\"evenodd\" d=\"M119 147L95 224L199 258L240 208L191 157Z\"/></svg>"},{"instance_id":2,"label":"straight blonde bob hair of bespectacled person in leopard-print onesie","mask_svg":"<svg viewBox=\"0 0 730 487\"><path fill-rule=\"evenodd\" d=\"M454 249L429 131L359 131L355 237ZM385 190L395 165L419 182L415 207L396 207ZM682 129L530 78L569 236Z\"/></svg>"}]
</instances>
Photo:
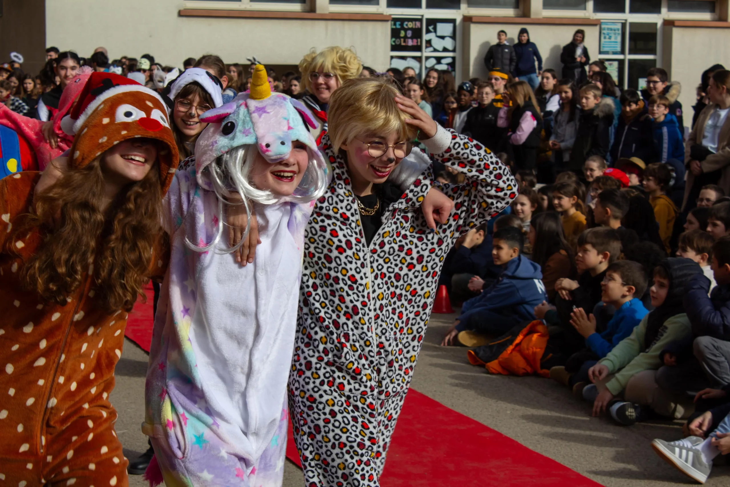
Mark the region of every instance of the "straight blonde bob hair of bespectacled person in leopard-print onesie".
<instances>
[{"instance_id":1,"label":"straight blonde bob hair of bespectacled person in leopard-print onesie","mask_svg":"<svg viewBox=\"0 0 730 487\"><path fill-rule=\"evenodd\" d=\"M332 93L329 102L328 135L334 150L358 135L398 132L401 140L415 139L410 118L401 112L395 97L401 91L389 77L353 78Z\"/></svg>"}]
</instances>

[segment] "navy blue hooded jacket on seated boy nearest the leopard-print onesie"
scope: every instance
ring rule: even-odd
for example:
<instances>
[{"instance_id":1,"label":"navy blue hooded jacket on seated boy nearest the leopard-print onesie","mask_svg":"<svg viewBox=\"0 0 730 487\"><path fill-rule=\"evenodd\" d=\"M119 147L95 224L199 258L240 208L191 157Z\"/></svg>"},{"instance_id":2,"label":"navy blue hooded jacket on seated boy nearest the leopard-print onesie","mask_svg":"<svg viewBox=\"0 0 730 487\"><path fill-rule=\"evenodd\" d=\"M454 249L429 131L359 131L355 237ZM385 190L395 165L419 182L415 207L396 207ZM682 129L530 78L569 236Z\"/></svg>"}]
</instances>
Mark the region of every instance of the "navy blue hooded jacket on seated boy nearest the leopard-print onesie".
<instances>
[{"instance_id":1,"label":"navy blue hooded jacket on seated boy nearest the leopard-print onesie","mask_svg":"<svg viewBox=\"0 0 730 487\"><path fill-rule=\"evenodd\" d=\"M518 320L534 320L534 308L543 301L548 301L548 294L542 283L540 266L520 254L507 262L493 285L464 303L461 316L457 318L461 323L456 329L466 329L469 316L477 310L490 310Z\"/></svg>"}]
</instances>

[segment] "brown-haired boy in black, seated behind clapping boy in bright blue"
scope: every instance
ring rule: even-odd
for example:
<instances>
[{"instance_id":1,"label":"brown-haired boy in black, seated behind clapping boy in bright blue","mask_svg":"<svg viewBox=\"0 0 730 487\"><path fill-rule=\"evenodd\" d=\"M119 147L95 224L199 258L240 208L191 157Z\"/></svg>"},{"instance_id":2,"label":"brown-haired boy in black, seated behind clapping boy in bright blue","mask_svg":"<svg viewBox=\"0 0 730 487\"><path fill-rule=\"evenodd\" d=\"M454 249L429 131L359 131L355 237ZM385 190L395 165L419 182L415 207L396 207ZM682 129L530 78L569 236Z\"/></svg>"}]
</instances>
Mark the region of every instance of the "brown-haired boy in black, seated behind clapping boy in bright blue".
<instances>
[{"instance_id":1,"label":"brown-haired boy in black, seated behind clapping boy in bright blue","mask_svg":"<svg viewBox=\"0 0 730 487\"><path fill-rule=\"evenodd\" d=\"M621 254L621 240L615 230L605 227L588 229L578 238L575 266L578 280L558 279L556 305L539 304L534 310L538 319L544 319L550 327L550 344L568 358L585 348L585 339L570 325L571 314L582 308L586 314L593 312L601 302L602 282L610 264Z\"/></svg>"}]
</instances>

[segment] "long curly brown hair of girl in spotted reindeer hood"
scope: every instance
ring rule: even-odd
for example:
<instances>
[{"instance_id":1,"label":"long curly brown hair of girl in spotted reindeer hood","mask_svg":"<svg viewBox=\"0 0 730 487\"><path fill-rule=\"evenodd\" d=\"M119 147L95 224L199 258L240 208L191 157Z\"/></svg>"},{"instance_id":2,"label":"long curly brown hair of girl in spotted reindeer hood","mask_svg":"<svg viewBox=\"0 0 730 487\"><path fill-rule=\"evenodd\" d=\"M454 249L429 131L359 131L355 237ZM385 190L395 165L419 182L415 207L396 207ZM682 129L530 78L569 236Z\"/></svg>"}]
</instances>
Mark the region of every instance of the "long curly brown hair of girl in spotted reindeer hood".
<instances>
[{"instance_id":1,"label":"long curly brown hair of girl in spotted reindeer hood","mask_svg":"<svg viewBox=\"0 0 730 487\"><path fill-rule=\"evenodd\" d=\"M144 299L142 285L162 233L159 163L102 211L101 157L69 169L37 196L34 209L24 215L15 234L38 230L42 242L23 266L21 280L28 290L63 305L85 273L93 273L107 311L131 311L139 294Z\"/></svg>"}]
</instances>

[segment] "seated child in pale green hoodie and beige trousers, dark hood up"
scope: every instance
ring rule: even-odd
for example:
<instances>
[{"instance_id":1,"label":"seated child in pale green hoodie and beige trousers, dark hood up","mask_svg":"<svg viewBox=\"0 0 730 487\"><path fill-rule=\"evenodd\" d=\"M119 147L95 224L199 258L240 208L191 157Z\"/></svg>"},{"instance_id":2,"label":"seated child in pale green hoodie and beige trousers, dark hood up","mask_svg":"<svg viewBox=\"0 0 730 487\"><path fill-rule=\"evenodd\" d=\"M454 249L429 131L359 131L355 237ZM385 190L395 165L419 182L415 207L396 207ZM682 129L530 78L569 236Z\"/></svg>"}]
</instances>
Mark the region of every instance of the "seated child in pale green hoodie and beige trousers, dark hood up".
<instances>
[{"instance_id":1,"label":"seated child in pale green hoodie and beige trousers, dark hood up","mask_svg":"<svg viewBox=\"0 0 730 487\"><path fill-rule=\"evenodd\" d=\"M687 404L662 394L655 377L661 367L661 350L669 342L691 335L682 298L697 274L702 275L702 269L688 258L665 258L656 266L650 288L655 309L588 371L593 384L583 389L583 397L593 400L593 416L606 412L630 426L645 419L649 408L669 418L687 413Z\"/></svg>"}]
</instances>

